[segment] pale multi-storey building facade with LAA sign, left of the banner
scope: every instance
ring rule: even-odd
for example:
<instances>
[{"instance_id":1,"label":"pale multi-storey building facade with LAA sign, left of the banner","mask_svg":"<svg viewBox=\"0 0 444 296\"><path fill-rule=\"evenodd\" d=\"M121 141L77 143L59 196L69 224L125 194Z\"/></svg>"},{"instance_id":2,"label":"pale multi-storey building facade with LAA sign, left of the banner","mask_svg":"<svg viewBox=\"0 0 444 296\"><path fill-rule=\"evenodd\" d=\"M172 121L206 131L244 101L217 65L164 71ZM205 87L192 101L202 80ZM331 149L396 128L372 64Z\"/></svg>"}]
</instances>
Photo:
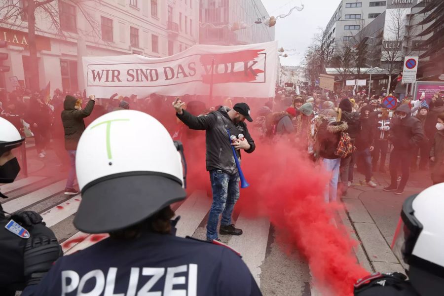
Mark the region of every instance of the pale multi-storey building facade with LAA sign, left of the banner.
<instances>
[{"instance_id":1,"label":"pale multi-storey building facade with LAA sign, left of the banner","mask_svg":"<svg viewBox=\"0 0 444 296\"><path fill-rule=\"evenodd\" d=\"M27 0L20 0L26 5ZM51 91L59 88L82 91L81 56L140 54L165 57L198 43L198 0L93 0L72 2L54 0L57 24L41 9L36 12L36 44L39 86L51 82ZM19 9L11 7L11 9ZM2 9L1 12L5 12ZM17 83L28 87L28 16L0 15L0 40L7 46L0 53L8 57L3 65L10 71L0 73L0 88L12 90ZM60 29L56 29L55 27Z\"/></svg>"}]
</instances>

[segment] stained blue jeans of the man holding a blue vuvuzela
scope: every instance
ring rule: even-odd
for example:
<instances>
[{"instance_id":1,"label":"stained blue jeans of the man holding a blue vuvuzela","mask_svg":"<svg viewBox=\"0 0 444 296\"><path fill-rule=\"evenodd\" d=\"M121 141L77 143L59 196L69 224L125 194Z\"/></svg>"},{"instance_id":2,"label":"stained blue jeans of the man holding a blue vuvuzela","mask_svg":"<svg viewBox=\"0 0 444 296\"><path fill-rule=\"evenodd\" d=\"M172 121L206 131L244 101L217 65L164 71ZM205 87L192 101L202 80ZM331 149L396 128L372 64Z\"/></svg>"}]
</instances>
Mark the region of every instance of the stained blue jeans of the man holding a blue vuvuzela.
<instances>
[{"instance_id":1,"label":"stained blue jeans of the man holding a blue vuvuzela","mask_svg":"<svg viewBox=\"0 0 444 296\"><path fill-rule=\"evenodd\" d=\"M222 214L221 225L231 224L231 214L239 199L239 174L228 175L222 170L210 171L213 204L207 223L207 239L218 239L218 222Z\"/></svg>"}]
</instances>

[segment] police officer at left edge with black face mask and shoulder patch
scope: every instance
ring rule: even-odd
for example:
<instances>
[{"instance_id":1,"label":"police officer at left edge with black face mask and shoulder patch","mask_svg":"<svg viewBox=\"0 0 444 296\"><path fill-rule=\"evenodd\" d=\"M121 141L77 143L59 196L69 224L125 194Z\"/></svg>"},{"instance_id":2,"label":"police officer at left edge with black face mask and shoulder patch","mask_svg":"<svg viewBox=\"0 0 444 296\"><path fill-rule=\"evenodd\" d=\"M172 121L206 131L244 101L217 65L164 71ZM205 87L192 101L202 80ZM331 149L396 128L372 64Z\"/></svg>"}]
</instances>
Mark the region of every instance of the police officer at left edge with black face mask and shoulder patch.
<instances>
[{"instance_id":1,"label":"police officer at left edge with black face mask and shoulder patch","mask_svg":"<svg viewBox=\"0 0 444 296\"><path fill-rule=\"evenodd\" d=\"M12 123L0 117L0 183L12 183L20 171L13 148L21 146L24 138ZM0 192L0 197L7 198ZM14 296L15 291L25 288L23 254L26 244L34 237L57 239L42 223L36 212L22 211L13 215L0 205L0 295ZM37 240L36 240L37 241Z\"/></svg>"}]
</instances>

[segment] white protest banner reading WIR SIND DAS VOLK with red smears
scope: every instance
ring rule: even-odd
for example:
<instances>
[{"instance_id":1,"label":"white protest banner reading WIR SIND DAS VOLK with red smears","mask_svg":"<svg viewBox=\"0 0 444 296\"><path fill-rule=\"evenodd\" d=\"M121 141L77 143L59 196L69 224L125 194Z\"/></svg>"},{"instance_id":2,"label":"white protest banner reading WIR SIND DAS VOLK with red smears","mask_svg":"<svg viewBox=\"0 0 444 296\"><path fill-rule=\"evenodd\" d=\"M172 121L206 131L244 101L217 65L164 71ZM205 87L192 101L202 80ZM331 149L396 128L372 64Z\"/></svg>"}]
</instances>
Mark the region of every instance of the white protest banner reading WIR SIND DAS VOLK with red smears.
<instances>
[{"instance_id":1,"label":"white protest banner reading WIR SIND DAS VOLK with red smears","mask_svg":"<svg viewBox=\"0 0 444 296\"><path fill-rule=\"evenodd\" d=\"M194 45L164 58L141 55L83 57L87 95L147 97L208 95L273 97L277 41L237 45Z\"/></svg>"}]
</instances>

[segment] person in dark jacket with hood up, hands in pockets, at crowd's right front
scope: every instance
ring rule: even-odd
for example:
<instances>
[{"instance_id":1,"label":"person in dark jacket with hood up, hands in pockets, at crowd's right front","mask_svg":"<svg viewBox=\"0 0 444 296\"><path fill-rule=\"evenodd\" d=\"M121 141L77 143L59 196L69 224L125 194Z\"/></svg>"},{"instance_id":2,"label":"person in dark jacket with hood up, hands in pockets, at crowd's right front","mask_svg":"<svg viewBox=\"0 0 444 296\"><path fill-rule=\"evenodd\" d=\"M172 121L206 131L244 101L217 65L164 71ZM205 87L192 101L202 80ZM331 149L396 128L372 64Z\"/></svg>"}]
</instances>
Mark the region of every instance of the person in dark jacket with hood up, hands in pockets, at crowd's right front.
<instances>
[{"instance_id":1,"label":"person in dark jacket with hood up, hands in pockets, at crowd's right front","mask_svg":"<svg viewBox=\"0 0 444 296\"><path fill-rule=\"evenodd\" d=\"M389 139L394 147L390 153L390 185L384 187L383 190L402 194L410 173L411 151L424 139L422 123L418 118L411 116L408 104L402 104L396 109ZM398 185L397 171L399 167L401 167L403 177Z\"/></svg>"}]
</instances>

